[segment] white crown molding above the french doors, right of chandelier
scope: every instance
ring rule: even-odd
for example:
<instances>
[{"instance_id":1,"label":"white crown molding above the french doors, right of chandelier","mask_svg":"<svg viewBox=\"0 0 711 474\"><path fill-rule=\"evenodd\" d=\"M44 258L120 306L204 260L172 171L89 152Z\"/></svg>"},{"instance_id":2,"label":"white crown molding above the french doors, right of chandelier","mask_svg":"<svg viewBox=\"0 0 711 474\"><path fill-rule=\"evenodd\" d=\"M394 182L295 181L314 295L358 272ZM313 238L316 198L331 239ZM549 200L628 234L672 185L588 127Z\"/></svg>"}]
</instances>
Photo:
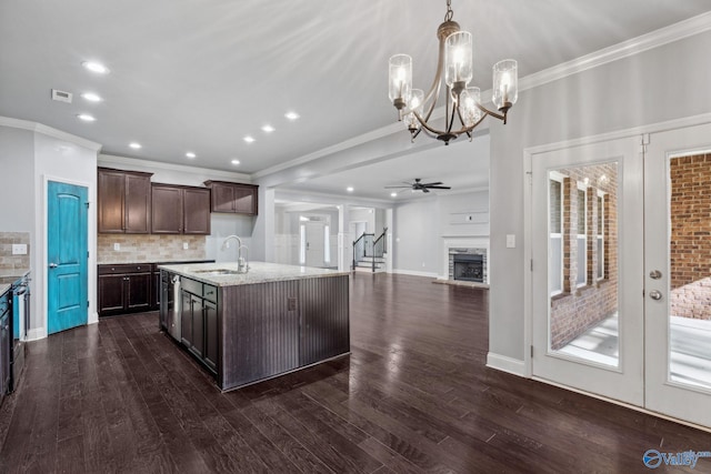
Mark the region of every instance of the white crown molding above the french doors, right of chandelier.
<instances>
[{"instance_id":1,"label":"white crown molding above the french doors, right of chandelier","mask_svg":"<svg viewBox=\"0 0 711 474\"><path fill-rule=\"evenodd\" d=\"M709 30L711 11L529 74L519 81L519 90L533 89Z\"/></svg>"}]
</instances>

